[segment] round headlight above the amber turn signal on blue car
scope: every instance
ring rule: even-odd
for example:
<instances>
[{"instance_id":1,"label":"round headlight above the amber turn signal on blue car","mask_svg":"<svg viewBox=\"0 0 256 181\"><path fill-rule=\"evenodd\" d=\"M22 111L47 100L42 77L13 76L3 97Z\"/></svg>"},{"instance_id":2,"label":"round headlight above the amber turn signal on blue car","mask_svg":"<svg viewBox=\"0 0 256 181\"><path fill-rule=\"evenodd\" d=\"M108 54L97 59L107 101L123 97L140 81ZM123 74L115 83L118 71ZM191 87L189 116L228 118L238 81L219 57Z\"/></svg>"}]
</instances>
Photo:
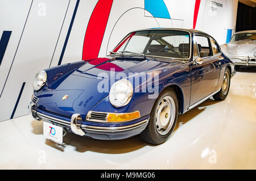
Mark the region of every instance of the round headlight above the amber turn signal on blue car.
<instances>
[{"instance_id":1,"label":"round headlight above the amber turn signal on blue car","mask_svg":"<svg viewBox=\"0 0 256 181\"><path fill-rule=\"evenodd\" d=\"M127 79L121 79L113 84L109 92L109 101L114 107L127 105L133 96L133 86Z\"/></svg>"}]
</instances>

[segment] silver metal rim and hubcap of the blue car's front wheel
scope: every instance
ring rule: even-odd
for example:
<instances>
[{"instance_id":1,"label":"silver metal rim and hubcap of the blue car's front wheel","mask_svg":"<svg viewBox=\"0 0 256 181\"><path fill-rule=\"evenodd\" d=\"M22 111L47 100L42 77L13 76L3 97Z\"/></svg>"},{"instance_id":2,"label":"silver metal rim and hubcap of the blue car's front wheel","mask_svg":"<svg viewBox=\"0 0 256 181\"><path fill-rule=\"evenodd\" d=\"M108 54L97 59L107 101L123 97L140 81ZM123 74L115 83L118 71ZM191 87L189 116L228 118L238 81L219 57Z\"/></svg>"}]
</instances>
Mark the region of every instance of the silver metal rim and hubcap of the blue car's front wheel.
<instances>
[{"instance_id":1,"label":"silver metal rim and hubcap of the blue car's front wheel","mask_svg":"<svg viewBox=\"0 0 256 181\"><path fill-rule=\"evenodd\" d=\"M164 96L155 112L155 127L159 134L167 134L175 119L175 102L171 96Z\"/></svg>"}]
</instances>

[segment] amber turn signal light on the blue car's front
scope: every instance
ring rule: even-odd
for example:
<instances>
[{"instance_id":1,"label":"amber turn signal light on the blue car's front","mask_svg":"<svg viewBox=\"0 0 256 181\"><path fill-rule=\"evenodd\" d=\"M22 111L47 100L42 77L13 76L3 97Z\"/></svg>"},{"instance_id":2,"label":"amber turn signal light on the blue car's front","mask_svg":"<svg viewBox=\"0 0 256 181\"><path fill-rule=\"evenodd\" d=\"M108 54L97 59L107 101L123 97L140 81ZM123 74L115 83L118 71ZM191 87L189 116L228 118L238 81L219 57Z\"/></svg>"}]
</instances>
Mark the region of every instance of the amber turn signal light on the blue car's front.
<instances>
[{"instance_id":1,"label":"amber turn signal light on the blue car's front","mask_svg":"<svg viewBox=\"0 0 256 181\"><path fill-rule=\"evenodd\" d=\"M141 117L139 111L131 113L109 113L108 122L130 121Z\"/></svg>"}]
</instances>

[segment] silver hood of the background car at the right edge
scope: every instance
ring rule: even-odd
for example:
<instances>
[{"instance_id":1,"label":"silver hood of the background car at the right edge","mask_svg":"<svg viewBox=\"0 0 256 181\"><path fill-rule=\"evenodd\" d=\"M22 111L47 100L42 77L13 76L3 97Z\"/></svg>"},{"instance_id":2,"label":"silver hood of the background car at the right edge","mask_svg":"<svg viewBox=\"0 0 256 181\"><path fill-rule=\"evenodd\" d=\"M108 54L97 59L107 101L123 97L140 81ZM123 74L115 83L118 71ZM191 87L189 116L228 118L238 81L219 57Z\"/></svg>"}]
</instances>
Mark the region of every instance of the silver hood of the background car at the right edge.
<instances>
[{"instance_id":1,"label":"silver hood of the background car at the right edge","mask_svg":"<svg viewBox=\"0 0 256 181\"><path fill-rule=\"evenodd\" d=\"M255 41L233 41L228 44L228 53L230 54L246 54L256 48Z\"/></svg>"}]
</instances>

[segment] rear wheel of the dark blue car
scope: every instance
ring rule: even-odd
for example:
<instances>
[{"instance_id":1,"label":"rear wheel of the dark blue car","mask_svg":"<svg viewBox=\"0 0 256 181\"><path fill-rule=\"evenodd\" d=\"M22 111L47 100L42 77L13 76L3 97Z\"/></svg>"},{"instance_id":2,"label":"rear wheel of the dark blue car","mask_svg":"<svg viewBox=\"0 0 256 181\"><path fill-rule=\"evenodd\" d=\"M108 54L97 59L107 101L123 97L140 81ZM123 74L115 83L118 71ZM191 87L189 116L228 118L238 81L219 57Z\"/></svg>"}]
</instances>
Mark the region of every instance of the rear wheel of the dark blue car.
<instances>
[{"instance_id":1,"label":"rear wheel of the dark blue car","mask_svg":"<svg viewBox=\"0 0 256 181\"><path fill-rule=\"evenodd\" d=\"M215 100L224 100L226 99L226 96L229 93L229 87L230 87L230 71L228 68L226 68L224 77L223 77L223 82L221 86L221 90L218 91L216 94L213 95L213 98Z\"/></svg>"}]
</instances>

